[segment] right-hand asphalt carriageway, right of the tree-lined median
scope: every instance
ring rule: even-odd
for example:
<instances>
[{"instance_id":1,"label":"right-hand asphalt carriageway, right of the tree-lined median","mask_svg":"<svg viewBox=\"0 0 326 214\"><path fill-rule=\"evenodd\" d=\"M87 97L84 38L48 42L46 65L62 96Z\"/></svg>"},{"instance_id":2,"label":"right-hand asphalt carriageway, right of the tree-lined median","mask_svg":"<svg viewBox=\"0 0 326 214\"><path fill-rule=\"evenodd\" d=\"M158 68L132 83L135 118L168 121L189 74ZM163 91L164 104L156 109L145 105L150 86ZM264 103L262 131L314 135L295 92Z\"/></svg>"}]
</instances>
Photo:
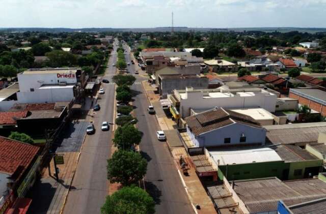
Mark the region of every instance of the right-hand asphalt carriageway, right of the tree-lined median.
<instances>
[{"instance_id":1,"label":"right-hand asphalt carriageway, right of the tree-lined median","mask_svg":"<svg viewBox=\"0 0 326 214\"><path fill-rule=\"evenodd\" d=\"M128 50L126 46L124 48ZM126 54L126 61L131 62L129 51ZM131 75L134 75L135 68L139 69L137 64L128 66ZM136 82L145 80L139 75L134 76L137 78ZM143 157L148 161L145 187L156 202L156 213L194 213L167 143L157 140L156 131L159 130L159 126L155 115L147 112L150 103L143 86L133 84L131 89L136 95L133 105L136 107L135 115L139 120L138 129L144 134L140 149Z\"/></svg>"}]
</instances>

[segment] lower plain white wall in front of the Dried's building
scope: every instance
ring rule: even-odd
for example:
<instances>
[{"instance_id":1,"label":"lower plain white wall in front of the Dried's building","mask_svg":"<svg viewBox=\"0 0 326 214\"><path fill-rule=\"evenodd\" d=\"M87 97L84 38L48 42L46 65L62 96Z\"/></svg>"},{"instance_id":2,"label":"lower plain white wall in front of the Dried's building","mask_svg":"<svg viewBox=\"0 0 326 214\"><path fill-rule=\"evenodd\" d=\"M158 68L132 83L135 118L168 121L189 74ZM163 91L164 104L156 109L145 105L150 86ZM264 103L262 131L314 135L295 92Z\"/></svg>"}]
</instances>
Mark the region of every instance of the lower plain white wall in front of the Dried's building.
<instances>
[{"instance_id":1,"label":"lower plain white wall in front of the Dried's building","mask_svg":"<svg viewBox=\"0 0 326 214\"><path fill-rule=\"evenodd\" d=\"M74 99L73 88L36 89L34 92L18 92L19 103L70 102Z\"/></svg>"}]
</instances>

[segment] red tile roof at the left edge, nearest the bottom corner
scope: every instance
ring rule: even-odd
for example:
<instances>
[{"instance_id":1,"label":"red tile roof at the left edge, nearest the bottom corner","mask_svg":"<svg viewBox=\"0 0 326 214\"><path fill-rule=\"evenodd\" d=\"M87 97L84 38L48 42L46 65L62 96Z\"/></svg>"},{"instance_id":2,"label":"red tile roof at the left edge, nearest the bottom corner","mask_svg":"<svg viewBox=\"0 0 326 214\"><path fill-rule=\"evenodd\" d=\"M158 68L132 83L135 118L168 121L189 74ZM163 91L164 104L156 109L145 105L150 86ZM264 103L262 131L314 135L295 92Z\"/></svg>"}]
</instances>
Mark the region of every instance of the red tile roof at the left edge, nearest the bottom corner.
<instances>
[{"instance_id":1,"label":"red tile roof at the left edge, nearest the bottom corner","mask_svg":"<svg viewBox=\"0 0 326 214\"><path fill-rule=\"evenodd\" d=\"M39 149L37 146L0 136L0 172L19 179Z\"/></svg>"}]
</instances>

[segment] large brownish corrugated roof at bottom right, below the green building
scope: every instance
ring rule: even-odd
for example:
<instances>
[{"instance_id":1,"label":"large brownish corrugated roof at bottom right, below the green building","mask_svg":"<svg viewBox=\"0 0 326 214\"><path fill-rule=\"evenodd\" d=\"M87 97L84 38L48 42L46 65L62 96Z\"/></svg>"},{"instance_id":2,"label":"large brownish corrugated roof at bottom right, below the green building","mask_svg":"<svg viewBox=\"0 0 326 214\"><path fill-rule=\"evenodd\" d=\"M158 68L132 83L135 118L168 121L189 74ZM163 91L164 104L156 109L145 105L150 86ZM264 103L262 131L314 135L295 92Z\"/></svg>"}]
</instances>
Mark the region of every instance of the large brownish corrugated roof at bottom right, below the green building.
<instances>
[{"instance_id":1,"label":"large brownish corrugated roof at bottom right, below the green building","mask_svg":"<svg viewBox=\"0 0 326 214\"><path fill-rule=\"evenodd\" d=\"M277 210L287 205L326 197L326 182L318 178L281 181L276 177L235 181L234 191L251 213Z\"/></svg>"}]
</instances>

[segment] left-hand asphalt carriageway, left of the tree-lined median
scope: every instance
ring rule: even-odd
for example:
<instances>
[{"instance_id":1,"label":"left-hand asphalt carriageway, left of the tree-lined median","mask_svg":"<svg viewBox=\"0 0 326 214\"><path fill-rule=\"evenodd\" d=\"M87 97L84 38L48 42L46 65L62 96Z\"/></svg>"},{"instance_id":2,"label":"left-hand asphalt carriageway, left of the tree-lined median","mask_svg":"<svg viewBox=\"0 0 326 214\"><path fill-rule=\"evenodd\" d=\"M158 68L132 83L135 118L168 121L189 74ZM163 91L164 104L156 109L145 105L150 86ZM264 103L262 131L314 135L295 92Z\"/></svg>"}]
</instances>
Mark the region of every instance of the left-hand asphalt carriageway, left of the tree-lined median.
<instances>
[{"instance_id":1,"label":"left-hand asphalt carriageway, left of the tree-lined median","mask_svg":"<svg viewBox=\"0 0 326 214\"><path fill-rule=\"evenodd\" d=\"M116 48L115 48L116 50ZM64 213L100 213L100 207L107 195L106 160L111 152L110 131L101 131L102 121L113 122L115 85L111 78L115 74L117 54L113 51L105 71L105 79L110 80L109 84L102 83L105 94L100 95L97 103L101 109L94 111L93 123L96 129L95 134L87 135L77 164L77 170L69 191Z\"/></svg>"}]
</instances>

